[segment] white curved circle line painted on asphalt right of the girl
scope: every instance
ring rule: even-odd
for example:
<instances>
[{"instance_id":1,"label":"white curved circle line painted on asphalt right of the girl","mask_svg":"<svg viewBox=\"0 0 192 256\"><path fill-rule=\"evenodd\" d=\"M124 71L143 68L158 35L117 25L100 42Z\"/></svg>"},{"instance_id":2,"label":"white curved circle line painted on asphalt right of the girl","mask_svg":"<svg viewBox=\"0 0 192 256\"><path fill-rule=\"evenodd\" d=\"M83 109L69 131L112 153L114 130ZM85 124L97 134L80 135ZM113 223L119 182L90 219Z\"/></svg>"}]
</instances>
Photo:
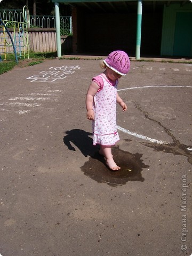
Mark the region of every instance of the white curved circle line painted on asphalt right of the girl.
<instances>
[{"instance_id":1,"label":"white curved circle line painted on asphalt right of the girl","mask_svg":"<svg viewBox=\"0 0 192 256\"><path fill-rule=\"evenodd\" d=\"M117 91L132 90L132 89L145 89L145 88L151 88L151 87L153 87L153 88L154 87L187 87L187 88L192 88L192 86L182 86L182 85L150 85L150 86L137 86L137 87L124 88L124 89L119 89ZM121 127L121 126L118 126L118 125L117 125L117 129L119 131L122 131L126 134L132 135L132 136L137 137L137 138L142 139L142 140L148 140L150 142L154 142L154 143L157 143L157 144L169 144L168 142L165 142L165 141L162 141L162 140L152 139L152 138L149 138L145 135L135 133L135 132L131 132L131 131L129 131L129 130ZM187 147L187 150L192 151L192 148Z\"/></svg>"}]
</instances>

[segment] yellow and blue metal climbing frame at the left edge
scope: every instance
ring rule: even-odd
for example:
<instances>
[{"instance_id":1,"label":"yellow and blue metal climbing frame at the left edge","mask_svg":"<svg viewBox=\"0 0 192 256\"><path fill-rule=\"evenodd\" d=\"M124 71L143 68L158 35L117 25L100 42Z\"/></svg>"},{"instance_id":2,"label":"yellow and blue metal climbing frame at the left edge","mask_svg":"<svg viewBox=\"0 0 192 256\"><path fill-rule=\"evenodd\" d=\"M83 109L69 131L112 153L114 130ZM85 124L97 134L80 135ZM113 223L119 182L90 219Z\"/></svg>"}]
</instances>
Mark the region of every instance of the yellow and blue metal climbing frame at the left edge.
<instances>
[{"instance_id":1,"label":"yellow and blue metal climbing frame at the left edge","mask_svg":"<svg viewBox=\"0 0 192 256\"><path fill-rule=\"evenodd\" d=\"M10 11L9 11L10 12ZM29 58L28 27L29 10L25 5L20 20L9 15L10 20L0 19L0 62Z\"/></svg>"}]
</instances>

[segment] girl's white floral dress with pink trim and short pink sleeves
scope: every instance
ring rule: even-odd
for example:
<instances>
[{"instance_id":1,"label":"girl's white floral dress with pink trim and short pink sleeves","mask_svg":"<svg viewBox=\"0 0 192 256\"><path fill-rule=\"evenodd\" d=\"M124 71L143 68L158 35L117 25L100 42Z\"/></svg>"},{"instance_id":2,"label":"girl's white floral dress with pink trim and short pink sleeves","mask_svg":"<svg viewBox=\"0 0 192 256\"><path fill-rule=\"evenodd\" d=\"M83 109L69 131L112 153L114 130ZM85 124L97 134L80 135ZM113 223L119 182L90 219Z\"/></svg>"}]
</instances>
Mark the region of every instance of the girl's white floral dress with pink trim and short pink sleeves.
<instances>
[{"instance_id":1,"label":"girl's white floral dress with pink trim and short pink sleeves","mask_svg":"<svg viewBox=\"0 0 192 256\"><path fill-rule=\"evenodd\" d=\"M118 79L113 84L102 75L93 77L92 81L100 88L94 95L93 110L93 145L115 145L119 140L116 124L116 98Z\"/></svg>"}]
</instances>

